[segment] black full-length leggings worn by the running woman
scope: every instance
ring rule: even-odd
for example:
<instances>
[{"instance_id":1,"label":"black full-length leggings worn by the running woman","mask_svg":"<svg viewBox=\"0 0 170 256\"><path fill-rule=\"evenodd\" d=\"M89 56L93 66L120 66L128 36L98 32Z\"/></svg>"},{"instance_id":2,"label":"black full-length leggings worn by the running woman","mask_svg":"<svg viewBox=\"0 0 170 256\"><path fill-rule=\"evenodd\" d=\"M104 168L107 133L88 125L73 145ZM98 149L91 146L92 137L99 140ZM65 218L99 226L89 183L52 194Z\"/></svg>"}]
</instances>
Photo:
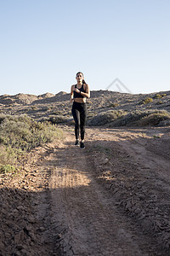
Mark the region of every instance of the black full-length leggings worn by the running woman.
<instances>
[{"instance_id":1,"label":"black full-length leggings worn by the running woman","mask_svg":"<svg viewBox=\"0 0 170 256\"><path fill-rule=\"evenodd\" d=\"M86 103L73 102L71 113L75 120L75 136L79 138L79 130L81 131L81 139L84 139L85 124L87 118Z\"/></svg>"}]
</instances>

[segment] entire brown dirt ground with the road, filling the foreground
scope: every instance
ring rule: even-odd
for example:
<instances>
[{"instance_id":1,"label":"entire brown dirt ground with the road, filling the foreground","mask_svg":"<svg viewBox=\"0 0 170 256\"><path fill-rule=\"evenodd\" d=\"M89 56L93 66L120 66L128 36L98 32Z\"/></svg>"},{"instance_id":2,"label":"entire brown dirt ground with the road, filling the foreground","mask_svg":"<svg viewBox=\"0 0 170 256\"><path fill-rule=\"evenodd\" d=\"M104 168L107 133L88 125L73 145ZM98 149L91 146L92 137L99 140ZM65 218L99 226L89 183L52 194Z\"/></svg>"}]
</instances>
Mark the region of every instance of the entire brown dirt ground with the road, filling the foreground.
<instances>
[{"instance_id":1,"label":"entire brown dirt ground with the road, filling the foreground","mask_svg":"<svg viewBox=\"0 0 170 256\"><path fill-rule=\"evenodd\" d=\"M0 179L0 255L170 255L170 127L74 128Z\"/></svg>"}]
</instances>

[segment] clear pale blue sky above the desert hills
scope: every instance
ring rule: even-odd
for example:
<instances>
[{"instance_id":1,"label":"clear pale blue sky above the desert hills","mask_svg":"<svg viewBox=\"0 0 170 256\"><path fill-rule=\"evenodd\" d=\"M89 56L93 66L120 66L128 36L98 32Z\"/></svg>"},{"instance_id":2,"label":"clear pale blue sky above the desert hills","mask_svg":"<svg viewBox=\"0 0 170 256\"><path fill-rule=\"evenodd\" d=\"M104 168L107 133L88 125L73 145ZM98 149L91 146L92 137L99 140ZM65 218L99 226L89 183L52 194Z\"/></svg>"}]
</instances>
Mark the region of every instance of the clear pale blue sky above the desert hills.
<instances>
[{"instance_id":1,"label":"clear pale blue sky above the desert hills","mask_svg":"<svg viewBox=\"0 0 170 256\"><path fill-rule=\"evenodd\" d=\"M0 34L0 95L170 90L169 0L0 0Z\"/></svg>"}]
</instances>

